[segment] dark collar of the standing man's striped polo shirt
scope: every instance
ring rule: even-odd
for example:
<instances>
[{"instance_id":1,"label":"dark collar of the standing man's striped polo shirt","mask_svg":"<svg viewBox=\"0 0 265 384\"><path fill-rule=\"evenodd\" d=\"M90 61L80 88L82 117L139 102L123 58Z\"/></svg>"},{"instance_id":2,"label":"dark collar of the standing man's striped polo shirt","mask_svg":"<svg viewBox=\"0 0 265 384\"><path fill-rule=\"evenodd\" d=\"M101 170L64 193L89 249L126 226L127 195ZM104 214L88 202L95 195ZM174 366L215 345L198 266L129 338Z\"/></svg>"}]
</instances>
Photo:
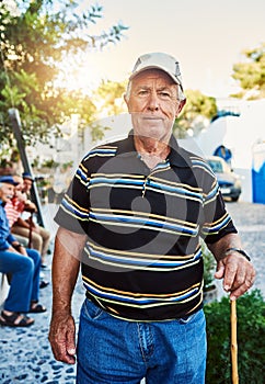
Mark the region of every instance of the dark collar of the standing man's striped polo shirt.
<instances>
[{"instance_id":1,"label":"dark collar of the standing man's striped polo shirt","mask_svg":"<svg viewBox=\"0 0 265 384\"><path fill-rule=\"evenodd\" d=\"M172 166L178 167L178 168L191 168L192 161L189 158L188 151L186 151L184 148L180 147L177 144L176 138L174 135L170 138L170 147L171 151L169 155L169 160ZM132 129L129 132L128 137L124 140L120 140L118 143L118 149L117 155L124 155L124 156L137 156L137 150L135 147L134 142L134 132Z\"/></svg>"}]
</instances>

